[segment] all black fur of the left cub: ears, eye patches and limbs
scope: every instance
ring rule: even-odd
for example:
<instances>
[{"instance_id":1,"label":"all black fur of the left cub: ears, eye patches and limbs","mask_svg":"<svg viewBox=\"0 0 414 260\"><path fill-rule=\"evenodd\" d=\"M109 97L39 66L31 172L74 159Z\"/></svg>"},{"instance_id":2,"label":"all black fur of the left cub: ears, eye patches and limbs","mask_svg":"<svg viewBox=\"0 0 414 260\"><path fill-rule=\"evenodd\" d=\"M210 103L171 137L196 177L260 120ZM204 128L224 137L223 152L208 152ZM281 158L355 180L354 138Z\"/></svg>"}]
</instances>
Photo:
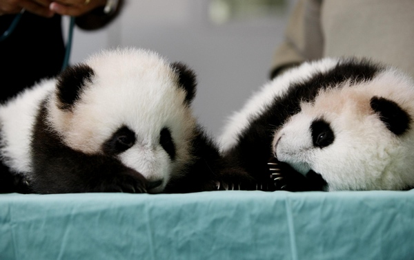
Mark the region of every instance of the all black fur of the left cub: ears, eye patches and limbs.
<instances>
[{"instance_id":1,"label":"all black fur of the left cub: ears, eye patches and limbs","mask_svg":"<svg viewBox=\"0 0 414 260\"><path fill-rule=\"evenodd\" d=\"M197 83L194 72L182 63L172 63L170 68L177 74L177 87L186 91L183 106L190 106L195 98ZM54 105L70 113L77 105L85 87L93 83L94 77L95 72L88 65L68 67L57 77L57 104ZM88 155L75 151L64 144L50 122L46 124L46 100L47 98L39 107L32 129L30 166L33 171L28 174L28 180L20 180L19 175L1 174L0 177L4 178L1 185L4 184L5 192L15 191L17 182L30 186L33 193L140 193L161 184L161 181L147 182L143 175L122 164L115 156L135 144L139 138L136 136L137 133L121 126L102 144L101 153ZM194 131L195 138L190 140L190 153L194 155L195 160L184 162L180 177L168 184L168 192L211 191L216 189L217 182L224 184L231 181L242 184L246 182L244 177L250 178L248 175L239 175L237 167L225 162L216 144L206 136L201 127ZM172 140L170 129L161 129L159 135L159 144L174 162L177 160L177 147ZM252 180L249 179L248 183L250 182ZM224 186L221 186L221 189L223 188Z\"/></svg>"}]
</instances>

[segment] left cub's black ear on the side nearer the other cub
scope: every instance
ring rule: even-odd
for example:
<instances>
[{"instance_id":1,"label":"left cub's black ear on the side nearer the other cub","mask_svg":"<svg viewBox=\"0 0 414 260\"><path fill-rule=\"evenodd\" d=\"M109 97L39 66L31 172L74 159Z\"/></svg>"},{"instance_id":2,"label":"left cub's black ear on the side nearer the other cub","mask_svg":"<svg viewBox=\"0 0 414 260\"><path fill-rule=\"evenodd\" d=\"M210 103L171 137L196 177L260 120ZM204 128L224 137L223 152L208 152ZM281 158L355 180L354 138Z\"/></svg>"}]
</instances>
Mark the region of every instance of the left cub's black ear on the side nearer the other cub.
<instances>
[{"instance_id":1,"label":"left cub's black ear on the side nearer the other cub","mask_svg":"<svg viewBox=\"0 0 414 260\"><path fill-rule=\"evenodd\" d=\"M195 98L197 85L195 73L183 63L172 63L171 67L178 74L179 87L182 87L187 92L186 102L190 104Z\"/></svg>"}]
</instances>

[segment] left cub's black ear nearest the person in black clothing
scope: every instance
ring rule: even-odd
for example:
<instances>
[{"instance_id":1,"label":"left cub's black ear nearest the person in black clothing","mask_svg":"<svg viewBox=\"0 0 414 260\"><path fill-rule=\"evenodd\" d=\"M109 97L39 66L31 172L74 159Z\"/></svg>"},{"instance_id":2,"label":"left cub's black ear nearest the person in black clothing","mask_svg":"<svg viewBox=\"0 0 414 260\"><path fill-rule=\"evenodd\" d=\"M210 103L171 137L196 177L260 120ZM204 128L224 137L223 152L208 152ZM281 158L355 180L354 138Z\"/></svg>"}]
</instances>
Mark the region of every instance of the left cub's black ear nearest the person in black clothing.
<instances>
[{"instance_id":1,"label":"left cub's black ear nearest the person in black clothing","mask_svg":"<svg viewBox=\"0 0 414 260\"><path fill-rule=\"evenodd\" d=\"M70 111L79 98L86 80L92 82L93 76L93 69L85 64L72 65L63 70L57 77L59 108Z\"/></svg>"}]
</instances>

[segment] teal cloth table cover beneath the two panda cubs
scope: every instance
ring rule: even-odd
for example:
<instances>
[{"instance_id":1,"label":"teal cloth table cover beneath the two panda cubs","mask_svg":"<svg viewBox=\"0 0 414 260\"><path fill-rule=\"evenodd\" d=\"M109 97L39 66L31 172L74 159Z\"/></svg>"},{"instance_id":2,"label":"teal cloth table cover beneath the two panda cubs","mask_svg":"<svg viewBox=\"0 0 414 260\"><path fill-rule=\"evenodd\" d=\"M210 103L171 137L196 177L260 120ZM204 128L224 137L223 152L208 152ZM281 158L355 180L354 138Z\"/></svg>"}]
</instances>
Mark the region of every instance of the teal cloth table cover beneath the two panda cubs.
<instances>
[{"instance_id":1,"label":"teal cloth table cover beneath the two panda cubs","mask_svg":"<svg viewBox=\"0 0 414 260\"><path fill-rule=\"evenodd\" d=\"M414 259L414 191L0 195L0 259Z\"/></svg>"}]
</instances>

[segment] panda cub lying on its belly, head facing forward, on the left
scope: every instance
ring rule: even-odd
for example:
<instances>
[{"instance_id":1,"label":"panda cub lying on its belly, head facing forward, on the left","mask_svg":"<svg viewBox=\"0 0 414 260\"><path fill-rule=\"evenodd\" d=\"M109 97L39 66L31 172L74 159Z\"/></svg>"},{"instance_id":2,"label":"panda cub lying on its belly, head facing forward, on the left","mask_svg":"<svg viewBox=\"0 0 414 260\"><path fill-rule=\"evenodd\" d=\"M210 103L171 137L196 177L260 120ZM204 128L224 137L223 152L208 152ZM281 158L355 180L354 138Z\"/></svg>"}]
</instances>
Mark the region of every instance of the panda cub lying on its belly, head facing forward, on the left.
<instances>
[{"instance_id":1,"label":"panda cub lying on its belly, head facing forward, on the left","mask_svg":"<svg viewBox=\"0 0 414 260\"><path fill-rule=\"evenodd\" d=\"M0 107L1 192L215 188L223 161L193 116L195 85L185 65L133 48L41 81Z\"/></svg>"}]
</instances>

